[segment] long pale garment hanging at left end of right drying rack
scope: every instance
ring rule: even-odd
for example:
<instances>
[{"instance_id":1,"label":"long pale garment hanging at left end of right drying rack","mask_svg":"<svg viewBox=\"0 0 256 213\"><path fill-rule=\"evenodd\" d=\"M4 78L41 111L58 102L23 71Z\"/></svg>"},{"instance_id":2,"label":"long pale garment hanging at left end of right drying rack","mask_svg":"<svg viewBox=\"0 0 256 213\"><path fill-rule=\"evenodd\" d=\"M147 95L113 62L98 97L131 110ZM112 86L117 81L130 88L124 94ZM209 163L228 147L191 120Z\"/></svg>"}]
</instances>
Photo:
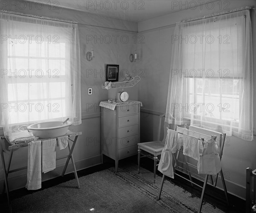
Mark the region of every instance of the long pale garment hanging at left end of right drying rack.
<instances>
[{"instance_id":1,"label":"long pale garment hanging at left end of right drying rack","mask_svg":"<svg viewBox=\"0 0 256 213\"><path fill-rule=\"evenodd\" d=\"M172 149L174 150L175 145L177 143L178 132L174 130L167 130L166 144L162 150L160 162L157 170L163 173L170 178L174 178L174 171L172 166ZM176 152L176 148L175 148Z\"/></svg>"}]
</instances>

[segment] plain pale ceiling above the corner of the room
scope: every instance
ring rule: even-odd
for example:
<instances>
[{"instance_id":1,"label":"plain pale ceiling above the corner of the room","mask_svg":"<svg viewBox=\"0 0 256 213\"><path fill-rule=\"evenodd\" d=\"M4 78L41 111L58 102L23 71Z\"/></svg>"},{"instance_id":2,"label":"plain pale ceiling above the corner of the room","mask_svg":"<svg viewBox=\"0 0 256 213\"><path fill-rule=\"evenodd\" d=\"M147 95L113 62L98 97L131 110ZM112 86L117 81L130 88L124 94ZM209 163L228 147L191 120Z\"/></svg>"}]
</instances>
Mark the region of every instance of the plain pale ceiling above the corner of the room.
<instances>
[{"instance_id":1,"label":"plain pale ceiling above the corner of the room","mask_svg":"<svg viewBox=\"0 0 256 213\"><path fill-rule=\"evenodd\" d=\"M38 2L38 0L29 0ZM177 12L187 0L41 0L40 2L68 9L99 14L121 20L140 22Z\"/></svg>"}]
</instances>

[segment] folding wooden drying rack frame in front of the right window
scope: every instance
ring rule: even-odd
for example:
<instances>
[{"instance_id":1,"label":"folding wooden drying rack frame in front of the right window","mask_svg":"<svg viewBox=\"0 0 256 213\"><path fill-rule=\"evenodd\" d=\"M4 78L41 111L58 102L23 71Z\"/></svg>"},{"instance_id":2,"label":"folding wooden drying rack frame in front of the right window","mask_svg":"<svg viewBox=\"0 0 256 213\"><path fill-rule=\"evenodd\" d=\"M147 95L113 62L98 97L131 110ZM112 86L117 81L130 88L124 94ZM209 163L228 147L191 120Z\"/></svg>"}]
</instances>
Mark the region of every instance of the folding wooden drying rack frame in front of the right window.
<instances>
[{"instance_id":1,"label":"folding wooden drying rack frame in front of the right window","mask_svg":"<svg viewBox=\"0 0 256 213\"><path fill-rule=\"evenodd\" d=\"M177 127L176 127L176 129L177 129ZM201 129L201 128L200 128L200 129ZM203 130L204 130L204 129L203 129ZM180 132L179 132L179 133L180 133ZM204 132L199 132L199 131L198 131L198 133L204 134ZM182 133L180 133L180 134L182 134ZM223 148L224 148L224 141L225 141L225 138L226 138L226 133L220 134L220 135L221 135L221 137L220 137L220 142L219 142L219 147L220 147L219 156L220 156L220 158L221 158L221 157L222 157L222 154L223 154ZM198 139L200 139L200 138L198 138ZM182 146L182 147L183 147L183 146ZM182 147L181 147L181 148L182 148ZM181 148L180 148L180 149L181 149ZM178 150L178 153L179 153L179 152L182 152L182 151L181 151L181 150ZM178 164L177 164L177 162L178 162L178 161L177 161L178 153L177 153L176 156L174 155L175 153L172 153L172 156L174 157L174 160L175 160L175 170L179 170ZM186 157L188 157L188 156L186 156L186 155L184 155L184 156L185 156L185 163L184 163L184 164L187 165L187 170L184 169L184 168L183 168L183 169L186 170L186 171L189 173L189 179L187 179L187 178L185 178L185 177L183 177L183 176L181 176L181 175L179 175L179 174L177 174L177 173L175 173L175 172L174 172L174 174L177 175L177 176L179 176L179 177L181 177L181 178L183 178L183 179L185 179L185 180L187 180L187 181L189 181L189 182L192 184L192 186L193 186L193 184L195 184L195 185L197 185L198 187L202 188L201 200L200 200L200 205L199 205L199 208L198 208L198 213L201 213L202 204L203 204L203 199L204 199L204 192L205 192L206 184L207 184L207 181L208 181L208 177L209 177L209 176L211 177L211 184L216 187L217 180L218 180L218 174L216 175L215 183L214 183L214 181L213 181L213 179L212 179L212 175L207 174L207 175L205 176L205 178L204 178L204 185L203 185L203 187L200 186L200 185L198 185L198 184L196 184L195 182L192 181L192 176L191 176L190 171L189 171L188 162L187 162L187 158L186 158ZM192 164L190 164L190 165L192 165ZM195 165L192 165L192 166L196 167ZM226 187L226 184L225 184L225 180L224 180L224 175L223 175L222 169L221 169L221 171L220 171L219 173L220 173L220 175L221 175L221 181L222 181L222 184L223 184L224 193L225 193L225 197L226 197L226 200L227 200L227 205L229 206L229 201L228 201L228 196L227 196L227 187ZM160 199L160 196L161 196L161 193L162 193L164 180L165 180L165 175L163 174L163 178L162 178L162 182L161 182L161 186L160 186L160 190L159 190L159 194L158 194L158 200Z\"/></svg>"}]
</instances>

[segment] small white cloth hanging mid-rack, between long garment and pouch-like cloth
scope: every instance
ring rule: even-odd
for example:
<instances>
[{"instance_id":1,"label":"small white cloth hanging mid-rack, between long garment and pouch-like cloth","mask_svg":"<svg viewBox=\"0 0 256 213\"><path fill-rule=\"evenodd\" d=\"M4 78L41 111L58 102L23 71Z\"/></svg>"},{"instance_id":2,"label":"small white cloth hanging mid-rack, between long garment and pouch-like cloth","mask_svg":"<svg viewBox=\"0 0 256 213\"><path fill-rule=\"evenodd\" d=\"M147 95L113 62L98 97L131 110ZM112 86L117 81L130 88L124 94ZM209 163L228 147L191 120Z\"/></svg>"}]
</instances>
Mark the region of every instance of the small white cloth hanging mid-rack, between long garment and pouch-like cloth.
<instances>
[{"instance_id":1,"label":"small white cloth hanging mid-rack, between long garment and pouch-like cloth","mask_svg":"<svg viewBox=\"0 0 256 213\"><path fill-rule=\"evenodd\" d=\"M200 142L198 142L197 137L183 134L183 155L187 155L198 160L199 147Z\"/></svg>"}]
</instances>

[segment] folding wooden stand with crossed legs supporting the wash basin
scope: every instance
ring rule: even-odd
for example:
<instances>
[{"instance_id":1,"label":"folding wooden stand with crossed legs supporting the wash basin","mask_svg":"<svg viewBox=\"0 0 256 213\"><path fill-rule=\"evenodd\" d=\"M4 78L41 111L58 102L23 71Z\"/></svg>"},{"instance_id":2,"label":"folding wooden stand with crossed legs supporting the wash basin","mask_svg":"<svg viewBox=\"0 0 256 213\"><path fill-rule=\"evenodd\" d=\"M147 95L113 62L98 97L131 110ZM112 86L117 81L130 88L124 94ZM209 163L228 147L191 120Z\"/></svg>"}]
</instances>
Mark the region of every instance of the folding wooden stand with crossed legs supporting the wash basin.
<instances>
[{"instance_id":1,"label":"folding wooden stand with crossed legs supporting the wash basin","mask_svg":"<svg viewBox=\"0 0 256 213\"><path fill-rule=\"evenodd\" d=\"M62 171L62 174L61 174L62 177L64 176L64 174L66 172L67 165L68 165L68 163L70 161L70 158L71 158L72 165L73 165L73 171L74 171L75 178L76 178L77 187L79 189L80 189L80 184L79 184L78 176L77 176L77 173L76 173L76 165L75 165L75 161L73 159L72 153L73 153L74 147L76 145L77 138L81 134L82 134L82 132L71 132L71 131L68 130L66 135L68 136L68 139L69 139L68 141L73 142L72 147L70 148L70 144L68 142L67 145L68 145L68 149L69 149L69 154L67 156L64 156L64 157L56 158L56 161L60 160L60 159L63 159L63 158L67 158L66 164L65 164L65 166L63 168L63 171ZM75 139L72 140L70 137L75 137ZM38 139L37 141L45 141L45 140L49 140L49 139L52 139L52 138ZM14 173L14 172L17 172L17 171L20 171L20 170L23 170L23 169L27 168L27 167L22 167L22 168L19 168L19 169L10 170L11 161L12 161L12 154L13 154L14 150L17 150L21 147L27 147L28 144L29 144L29 142L24 142L24 143L20 143L20 144L12 144L11 142L9 142L9 140L6 136L1 137L0 152L1 152L1 158L2 158L3 171L4 171L4 187L6 187L8 208L9 208L10 212L11 212L11 205L10 205L10 199L9 199L9 187L8 187L8 179L7 179L8 174L9 173ZM5 146L6 150L11 150L10 158L9 158L9 161L8 161L8 164L7 164L7 169L6 169L5 159L4 159L4 155L3 155L3 152L4 152L4 147L3 146ZM5 190L5 188L3 190Z\"/></svg>"}]
</instances>

